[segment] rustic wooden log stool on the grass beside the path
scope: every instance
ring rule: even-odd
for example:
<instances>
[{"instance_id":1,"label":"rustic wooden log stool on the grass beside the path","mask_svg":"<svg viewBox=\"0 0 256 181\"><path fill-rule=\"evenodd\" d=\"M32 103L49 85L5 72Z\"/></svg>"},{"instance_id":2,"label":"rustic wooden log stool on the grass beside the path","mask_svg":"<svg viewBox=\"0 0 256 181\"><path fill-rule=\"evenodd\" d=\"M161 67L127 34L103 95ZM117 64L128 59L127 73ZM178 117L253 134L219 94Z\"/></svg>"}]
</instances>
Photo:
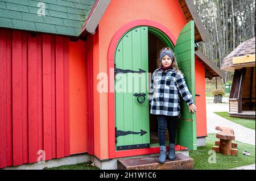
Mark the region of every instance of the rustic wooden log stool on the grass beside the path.
<instances>
[{"instance_id":1,"label":"rustic wooden log stool on the grass beside the path","mask_svg":"<svg viewBox=\"0 0 256 181\"><path fill-rule=\"evenodd\" d=\"M215 129L221 131L216 134L220 141L215 141L217 146L212 146L212 149L226 155L237 155L237 144L232 143L232 140L235 139L233 129L226 127L216 127Z\"/></svg>"}]
</instances>

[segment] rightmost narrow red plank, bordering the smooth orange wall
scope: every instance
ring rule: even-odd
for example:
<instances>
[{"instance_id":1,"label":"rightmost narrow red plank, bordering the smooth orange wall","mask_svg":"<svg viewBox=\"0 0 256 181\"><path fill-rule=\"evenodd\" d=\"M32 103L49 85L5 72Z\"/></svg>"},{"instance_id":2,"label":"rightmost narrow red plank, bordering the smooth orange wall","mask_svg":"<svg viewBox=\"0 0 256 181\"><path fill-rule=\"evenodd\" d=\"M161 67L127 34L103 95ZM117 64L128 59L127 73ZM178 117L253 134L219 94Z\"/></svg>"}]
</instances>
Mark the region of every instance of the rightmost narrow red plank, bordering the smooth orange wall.
<instances>
[{"instance_id":1,"label":"rightmost narrow red plank, bordering the smooth orange wall","mask_svg":"<svg viewBox=\"0 0 256 181\"><path fill-rule=\"evenodd\" d=\"M69 66L68 66L68 37L63 39L63 66L64 66L64 133L65 133L65 157L70 154L69 148Z\"/></svg>"}]
</instances>

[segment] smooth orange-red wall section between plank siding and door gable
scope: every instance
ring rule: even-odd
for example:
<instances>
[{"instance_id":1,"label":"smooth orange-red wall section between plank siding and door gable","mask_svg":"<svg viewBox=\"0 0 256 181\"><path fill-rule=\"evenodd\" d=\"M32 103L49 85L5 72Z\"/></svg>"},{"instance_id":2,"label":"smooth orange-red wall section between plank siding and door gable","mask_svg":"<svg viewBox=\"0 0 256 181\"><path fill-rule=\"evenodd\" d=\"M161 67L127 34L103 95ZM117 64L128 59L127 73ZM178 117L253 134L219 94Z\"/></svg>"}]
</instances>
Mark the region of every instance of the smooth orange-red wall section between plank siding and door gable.
<instances>
[{"instance_id":1,"label":"smooth orange-red wall section between plank siding and door gable","mask_svg":"<svg viewBox=\"0 0 256 181\"><path fill-rule=\"evenodd\" d=\"M93 35L69 41L70 153L94 152Z\"/></svg>"}]
</instances>

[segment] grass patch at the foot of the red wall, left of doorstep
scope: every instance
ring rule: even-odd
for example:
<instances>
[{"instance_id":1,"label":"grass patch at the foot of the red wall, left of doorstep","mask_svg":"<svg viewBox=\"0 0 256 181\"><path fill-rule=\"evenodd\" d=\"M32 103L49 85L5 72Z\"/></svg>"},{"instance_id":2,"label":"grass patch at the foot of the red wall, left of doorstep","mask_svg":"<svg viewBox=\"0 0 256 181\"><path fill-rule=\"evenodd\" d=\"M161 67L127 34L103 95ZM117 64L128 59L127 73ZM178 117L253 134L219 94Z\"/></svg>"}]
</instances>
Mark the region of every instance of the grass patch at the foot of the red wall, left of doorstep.
<instances>
[{"instance_id":1,"label":"grass patch at the foot of the red wall, left of doorstep","mask_svg":"<svg viewBox=\"0 0 256 181\"><path fill-rule=\"evenodd\" d=\"M46 170L100 170L96 166L92 166L91 162L78 163L75 165L63 165L59 167L47 168Z\"/></svg>"}]
</instances>

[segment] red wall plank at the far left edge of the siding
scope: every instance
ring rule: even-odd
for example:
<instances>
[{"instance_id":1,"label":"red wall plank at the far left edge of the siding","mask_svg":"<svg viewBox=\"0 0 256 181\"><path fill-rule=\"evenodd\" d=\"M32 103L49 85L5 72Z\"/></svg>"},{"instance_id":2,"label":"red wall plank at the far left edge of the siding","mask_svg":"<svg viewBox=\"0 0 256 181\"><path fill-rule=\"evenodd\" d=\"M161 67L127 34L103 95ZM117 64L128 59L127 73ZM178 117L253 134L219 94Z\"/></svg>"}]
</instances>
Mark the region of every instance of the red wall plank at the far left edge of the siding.
<instances>
[{"instance_id":1,"label":"red wall plank at the far left edge of the siding","mask_svg":"<svg viewBox=\"0 0 256 181\"><path fill-rule=\"evenodd\" d=\"M0 168L13 165L11 36L0 29Z\"/></svg>"}]
</instances>

